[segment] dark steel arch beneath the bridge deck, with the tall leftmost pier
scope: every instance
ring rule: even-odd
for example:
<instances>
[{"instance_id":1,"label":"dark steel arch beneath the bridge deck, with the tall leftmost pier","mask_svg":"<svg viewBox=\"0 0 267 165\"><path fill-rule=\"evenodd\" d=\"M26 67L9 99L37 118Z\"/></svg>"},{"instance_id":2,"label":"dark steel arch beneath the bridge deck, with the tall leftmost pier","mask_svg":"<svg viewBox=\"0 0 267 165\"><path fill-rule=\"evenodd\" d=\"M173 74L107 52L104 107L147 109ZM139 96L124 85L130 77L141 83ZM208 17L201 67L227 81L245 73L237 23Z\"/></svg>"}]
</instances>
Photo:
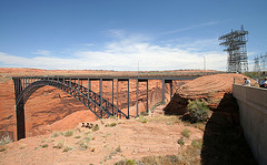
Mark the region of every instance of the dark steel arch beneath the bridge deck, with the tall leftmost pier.
<instances>
[{"instance_id":1,"label":"dark steel arch beneath the bridge deck, with the tall leftmost pier","mask_svg":"<svg viewBox=\"0 0 267 165\"><path fill-rule=\"evenodd\" d=\"M115 105L108 102L106 99L102 99L96 92L72 82L71 80L46 80L39 79L34 82L27 84L23 87L21 80L14 79L14 89L16 89L16 113L17 113L17 138L26 137L26 125L24 125L24 104L29 97L39 89L43 86L53 86L66 93L70 94L72 97L82 103L88 107L98 118L109 117L116 115ZM18 90L19 89L19 90ZM95 107L95 109L93 109ZM98 107L98 109L96 109ZM116 112L122 114L126 118L127 116L120 110L116 109Z\"/></svg>"}]
</instances>

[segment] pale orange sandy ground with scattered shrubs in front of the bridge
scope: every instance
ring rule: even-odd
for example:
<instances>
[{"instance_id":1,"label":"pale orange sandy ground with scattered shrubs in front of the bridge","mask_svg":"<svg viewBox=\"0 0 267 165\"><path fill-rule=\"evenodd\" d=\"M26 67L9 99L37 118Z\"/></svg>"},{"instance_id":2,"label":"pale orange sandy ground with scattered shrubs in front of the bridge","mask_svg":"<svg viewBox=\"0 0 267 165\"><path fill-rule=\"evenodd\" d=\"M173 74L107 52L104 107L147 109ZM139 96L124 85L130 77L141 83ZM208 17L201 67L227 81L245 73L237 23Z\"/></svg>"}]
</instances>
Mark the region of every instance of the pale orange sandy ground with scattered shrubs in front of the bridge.
<instances>
[{"instance_id":1,"label":"pale orange sandy ground with scattered shrubs in front of the bridge","mask_svg":"<svg viewBox=\"0 0 267 165\"><path fill-rule=\"evenodd\" d=\"M190 145L192 140L201 140L204 135L201 130L185 126L180 122L171 123L157 118L147 123L137 120L102 120L102 123L100 121L92 123L99 125L98 131L93 132L79 124L75 135L70 137L63 135L52 137L48 134L10 143L6 152L0 152L1 164L113 164L125 158L174 155ZM106 126L111 123L117 125ZM181 146L177 142L185 128L190 131L190 137L185 137L185 145ZM79 145L85 138L89 138L87 149ZM53 148L59 141L65 141L63 147ZM42 147L44 144L48 147ZM66 146L72 149L63 152Z\"/></svg>"}]
</instances>

